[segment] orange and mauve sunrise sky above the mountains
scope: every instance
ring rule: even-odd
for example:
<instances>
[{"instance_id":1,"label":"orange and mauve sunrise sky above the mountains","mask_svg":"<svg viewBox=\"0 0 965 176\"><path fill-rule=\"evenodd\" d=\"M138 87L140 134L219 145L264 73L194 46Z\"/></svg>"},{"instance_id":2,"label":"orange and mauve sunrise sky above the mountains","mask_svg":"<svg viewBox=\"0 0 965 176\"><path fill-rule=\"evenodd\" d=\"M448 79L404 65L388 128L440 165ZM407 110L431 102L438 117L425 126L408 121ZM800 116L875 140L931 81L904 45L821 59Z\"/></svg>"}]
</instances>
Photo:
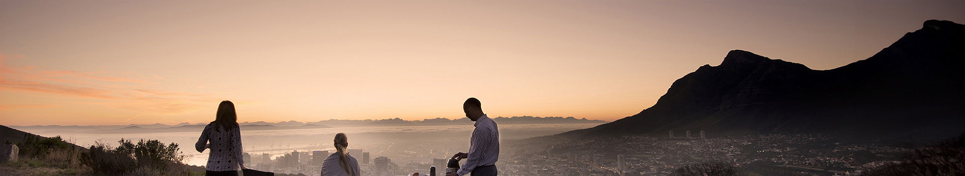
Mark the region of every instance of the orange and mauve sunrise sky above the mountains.
<instances>
[{"instance_id":1,"label":"orange and mauve sunrise sky above the mountains","mask_svg":"<svg viewBox=\"0 0 965 176\"><path fill-rule=\"evenodd\" d=\"M742 49L829 70L965 1L0 0L0 125L613 121Z\"/></svg>"}]
</instances>

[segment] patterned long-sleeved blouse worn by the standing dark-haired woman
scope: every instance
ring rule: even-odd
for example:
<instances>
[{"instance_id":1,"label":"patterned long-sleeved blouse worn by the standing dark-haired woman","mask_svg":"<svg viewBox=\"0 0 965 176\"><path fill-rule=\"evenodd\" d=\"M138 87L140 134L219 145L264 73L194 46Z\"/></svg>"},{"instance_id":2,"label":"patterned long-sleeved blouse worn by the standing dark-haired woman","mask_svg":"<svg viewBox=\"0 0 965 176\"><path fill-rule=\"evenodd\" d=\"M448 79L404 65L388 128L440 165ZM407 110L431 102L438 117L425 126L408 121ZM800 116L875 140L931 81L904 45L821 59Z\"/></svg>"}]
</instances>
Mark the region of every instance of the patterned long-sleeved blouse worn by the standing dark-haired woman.
<instances>
[{"instance_id":1,"label":"patterned long-sleeved blouse worn by the standing dark-haired woman","mask_svg":"<svg viewBox=\"0 0 965 176\"><path fill-rule=\"evenodd\" d=\"M229 171L238 170L238 164L244 164L241 160L241 130L234 128L230 132L225 132L224 128L218 128L213 123L205 126L205 131L201 132L198 143L194 148L198 152L205 151L205 144L210 141L210 153L207 154L206 169L210 171Z\"/></svg>"}]
</instances>

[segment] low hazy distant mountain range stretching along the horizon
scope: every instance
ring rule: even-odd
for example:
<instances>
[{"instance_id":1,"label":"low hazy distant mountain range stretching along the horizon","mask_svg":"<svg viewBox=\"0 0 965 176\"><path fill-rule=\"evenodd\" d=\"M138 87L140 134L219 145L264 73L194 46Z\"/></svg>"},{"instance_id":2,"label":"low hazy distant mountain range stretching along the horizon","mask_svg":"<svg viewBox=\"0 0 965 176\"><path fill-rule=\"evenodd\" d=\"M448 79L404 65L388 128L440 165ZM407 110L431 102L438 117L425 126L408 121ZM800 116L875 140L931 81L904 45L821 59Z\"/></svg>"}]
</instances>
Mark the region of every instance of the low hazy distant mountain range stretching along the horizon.
<instances>
[{"instance_id":1,"label":"low hazy distant mountain range stretching along the horizon","mask_svg":"<svg viewBox=\"0 0 965 176\"><path fill-rule=\"evenodd\" d=\"M588 120L586 118L576 119L573 117L496 117L493 121L499 124L583 124L583 123L606 123L600 120ZM450 120L447 118L435 118L425 120L402 120L400 118L382 120L323 120L317 122L242 122L243 131L263 131L263 130L290 130L290 129L320 129L331 127L361 127L361 126L445 126L445 125L472 125L469 118ZM42 133L151 133L151 132L199 132L204 129L207 123L180 123L177 125L165 124L131 124L126 126L10 126L11 128Z\"/></svg>"}]
</instances>

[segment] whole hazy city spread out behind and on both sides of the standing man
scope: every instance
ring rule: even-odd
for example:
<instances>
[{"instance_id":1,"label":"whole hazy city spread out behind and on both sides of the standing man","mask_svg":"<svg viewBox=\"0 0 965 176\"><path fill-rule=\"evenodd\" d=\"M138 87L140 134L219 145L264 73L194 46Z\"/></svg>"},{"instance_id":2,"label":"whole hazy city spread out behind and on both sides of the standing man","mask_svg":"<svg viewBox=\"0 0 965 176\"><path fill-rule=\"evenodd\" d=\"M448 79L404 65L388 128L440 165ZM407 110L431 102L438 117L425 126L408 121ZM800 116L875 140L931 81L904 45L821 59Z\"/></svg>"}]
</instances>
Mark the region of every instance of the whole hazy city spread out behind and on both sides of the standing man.
<instances>
[{"instance_id":1,"label":"whole hazy city spread out behind and on both sides of the standing man","mask_svg":"<svg viewBox=\"0 0 965 176\"><path fill-rule=\"evenodd\" d=\"M454 144L455 145L455 144ZM432 145L434 146L434 145ZM438 147L438 146L435 146ZM878 144L830 141L821 134L755 134L733 137L622 136L581 140L539 138L504 141L496 166L500 175L671 175L680 167L705 162L723 162L761 175L782 175L782 171L815 175L857 174L869 167L896 160L908 148ZM439 148L419 151L419 146L391 147L395 156L372 159L360 149L349 150L360 161L363 176L427 174L430 166L443 175L453 151ZM426 146L422 146L426 148ZM445 147L440 147L445 148ZM249 167L276 173L320 175L321 162L334 151L291 151L284 155L249 156ZM361 156L357 156L361 154ZM402 157L408 156L408 157ZM885 161L885 162L882 162ZM464 161L463 161L464 162ZM879 163L880 162L880 163Z\"/></svg>"}]
</instances>

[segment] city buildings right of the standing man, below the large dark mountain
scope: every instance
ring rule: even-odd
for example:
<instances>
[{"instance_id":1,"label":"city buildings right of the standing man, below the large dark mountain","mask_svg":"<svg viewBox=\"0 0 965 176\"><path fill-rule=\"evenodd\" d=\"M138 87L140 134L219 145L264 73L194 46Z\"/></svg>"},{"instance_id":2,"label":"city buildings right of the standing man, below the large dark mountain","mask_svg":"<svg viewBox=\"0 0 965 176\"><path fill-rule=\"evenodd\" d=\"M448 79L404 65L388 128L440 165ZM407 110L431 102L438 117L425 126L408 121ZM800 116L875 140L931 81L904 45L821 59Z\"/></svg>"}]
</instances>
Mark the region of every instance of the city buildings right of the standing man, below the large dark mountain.
<instances>
[{"instance_id":1,"label":"city buildings right of the standing man, below the large dark mountain","mask_svg":"<svg viewBox=\"0 0 965 176\"><path fill-rule=\"evenodd\" d=\"M855 175L913 149L841 143L821 134L756 134L706 138L622 136L544 139L539 146L510 148L501 172L509 175L673 175L699 163L727 163L761 175ZM554 141L555 140L555 141ZM527 141L537 142L537 141ZM510 145L511 146L511 145ZM499 164L499 163L497 163Z\"/></svg>"}]
</instances>

